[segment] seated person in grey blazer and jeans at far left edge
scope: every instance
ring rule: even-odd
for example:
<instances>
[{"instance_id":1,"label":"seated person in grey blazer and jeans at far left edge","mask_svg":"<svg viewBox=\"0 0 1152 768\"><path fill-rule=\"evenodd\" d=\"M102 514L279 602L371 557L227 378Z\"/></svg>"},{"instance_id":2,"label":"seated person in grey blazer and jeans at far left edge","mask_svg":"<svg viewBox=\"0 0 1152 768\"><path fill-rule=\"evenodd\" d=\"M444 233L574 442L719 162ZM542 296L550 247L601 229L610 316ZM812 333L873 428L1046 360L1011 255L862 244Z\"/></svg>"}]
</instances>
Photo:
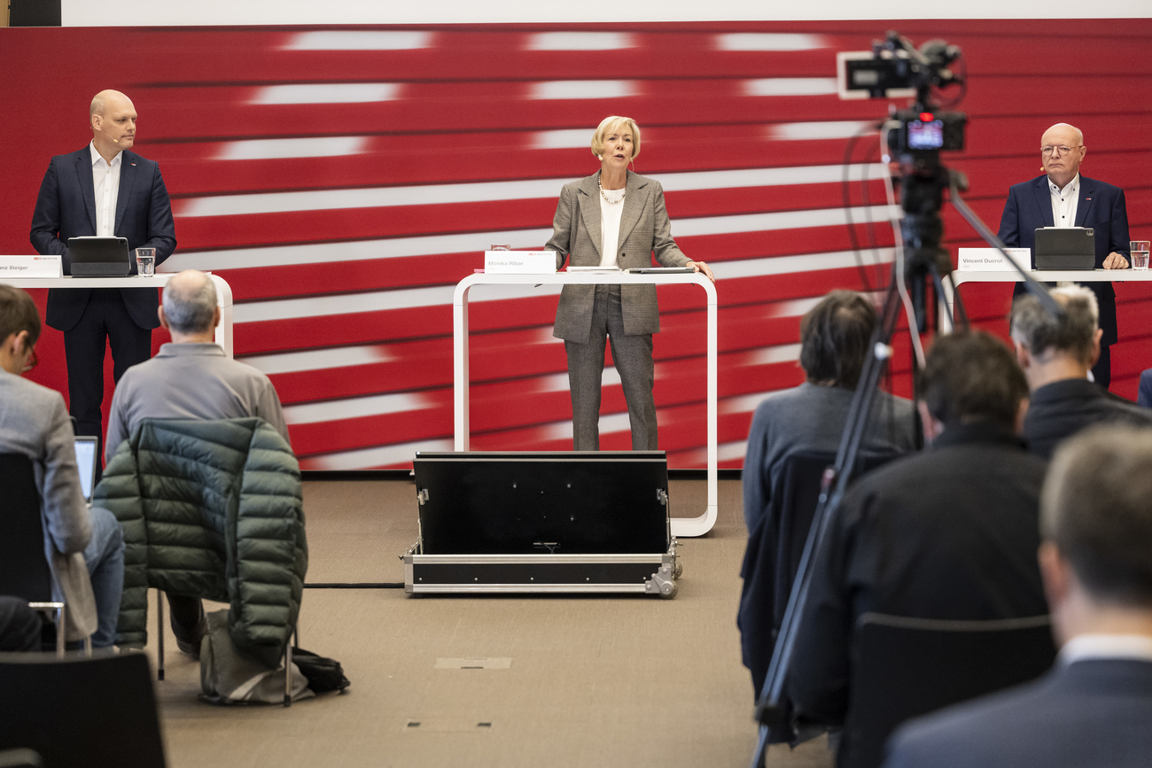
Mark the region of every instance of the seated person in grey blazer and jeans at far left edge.
<instances>
[{"instance_id":1,"label":"seated person in grey blazer and jeans at far left edge","mask_svg":"<svg viewBox=\"0 0 1152 768\"><path fill-rule=\"evenodd\" d=\"M65 398L21 375L36 365L39 337L40 317L32 298L18 288L0 286L0 453L32 459L52 598L68 606L66 637L91 634L92 646L105 648L116 638L124 541L112 512L84 503Z\"/></svg>"}]
</instances>

